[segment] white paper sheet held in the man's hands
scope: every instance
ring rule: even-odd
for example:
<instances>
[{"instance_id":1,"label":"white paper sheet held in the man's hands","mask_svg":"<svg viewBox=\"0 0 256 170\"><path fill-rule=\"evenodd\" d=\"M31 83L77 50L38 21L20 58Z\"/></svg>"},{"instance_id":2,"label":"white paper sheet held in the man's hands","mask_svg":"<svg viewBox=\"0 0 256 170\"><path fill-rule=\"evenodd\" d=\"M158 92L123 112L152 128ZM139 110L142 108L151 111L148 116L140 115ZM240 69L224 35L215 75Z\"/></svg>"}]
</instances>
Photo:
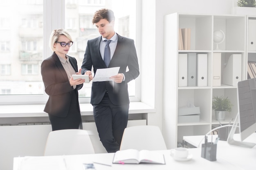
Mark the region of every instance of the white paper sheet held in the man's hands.
<instances>
[{"instance_id":1,"label":"white paper sheet held in the man's hands","mask_svg":"<svg viewBox=\"0 0 256 170\"><path fill-rule=\"evenodd\" d=\"M111 76L118 74L120 67L112 68L101 68L97 69L92 81L113 81L110 79Z\"/></svg>"}]
</instances>

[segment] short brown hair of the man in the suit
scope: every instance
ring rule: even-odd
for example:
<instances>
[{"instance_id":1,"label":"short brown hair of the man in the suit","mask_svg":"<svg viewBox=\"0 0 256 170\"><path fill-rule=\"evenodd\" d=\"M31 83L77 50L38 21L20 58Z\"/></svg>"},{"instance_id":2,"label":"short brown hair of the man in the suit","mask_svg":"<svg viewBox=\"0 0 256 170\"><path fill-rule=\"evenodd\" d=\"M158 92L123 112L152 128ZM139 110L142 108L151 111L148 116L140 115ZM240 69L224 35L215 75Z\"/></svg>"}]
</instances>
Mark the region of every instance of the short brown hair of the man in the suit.
<instances>
[{"instance_id":1,"label":"short brown hair of the man in the suit","mask_svg":"<svg viewBox=\"0 0 256 170\"><path fill-rule=\"evenodd\" d=\"M101 19L106 19L108 22L115 21L114 12L106 8L97 10L92 17L92 24L99 22Z\"/></svg>"}]
</instances>

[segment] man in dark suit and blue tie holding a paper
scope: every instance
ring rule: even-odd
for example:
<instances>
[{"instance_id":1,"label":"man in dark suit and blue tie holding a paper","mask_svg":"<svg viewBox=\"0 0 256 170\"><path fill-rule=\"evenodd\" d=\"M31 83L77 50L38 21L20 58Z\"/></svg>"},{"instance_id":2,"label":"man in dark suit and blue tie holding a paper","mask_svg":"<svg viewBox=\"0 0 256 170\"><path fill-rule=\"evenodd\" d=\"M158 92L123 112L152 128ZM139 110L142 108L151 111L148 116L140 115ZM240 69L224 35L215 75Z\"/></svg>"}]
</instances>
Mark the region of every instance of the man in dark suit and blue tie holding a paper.
<instances>
[{"instance_id":1,"label":"man in dark suit and blue tie holding a paper","mask_svg":"<svg viewBox=\"0 0 256 170\"><path fill-rule=\"evenodd\" d=\"M96 11L92 23L98 28L101 36L88 41L81 73L89 75L92 80L92 66L94 74L97 69L120 67L119 73L110 77L112 81L92 82L91 104L94 120L101 142L110 153L120 148L128 122L130 101L127 83L139 76L139 64L134 41L114 31L113 11ZM105 50L108 48L106 45L110 49L109 61L105 61L107 56L104 57L104 54L109 52Z\"/></svg>"}]
</instances>

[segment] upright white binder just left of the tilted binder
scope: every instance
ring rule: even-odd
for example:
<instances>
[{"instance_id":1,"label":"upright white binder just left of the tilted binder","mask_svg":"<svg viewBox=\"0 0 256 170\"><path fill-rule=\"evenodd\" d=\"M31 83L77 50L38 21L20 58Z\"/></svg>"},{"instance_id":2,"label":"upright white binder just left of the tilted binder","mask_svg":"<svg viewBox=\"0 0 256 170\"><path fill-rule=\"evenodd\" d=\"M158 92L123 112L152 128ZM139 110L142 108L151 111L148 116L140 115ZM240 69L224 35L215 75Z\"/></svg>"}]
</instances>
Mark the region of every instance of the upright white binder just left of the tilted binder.
<instances>
[{"instance_id":1,"label":"upright white binder just left of the tilted binder","mask_svg":"<svg viewBox=\"0 0 256 170\"><path fill-rule=\"evenodd\" d=\"M221 52L213 53L213 86L221 85Z\"/></svg>"}]
</instances>

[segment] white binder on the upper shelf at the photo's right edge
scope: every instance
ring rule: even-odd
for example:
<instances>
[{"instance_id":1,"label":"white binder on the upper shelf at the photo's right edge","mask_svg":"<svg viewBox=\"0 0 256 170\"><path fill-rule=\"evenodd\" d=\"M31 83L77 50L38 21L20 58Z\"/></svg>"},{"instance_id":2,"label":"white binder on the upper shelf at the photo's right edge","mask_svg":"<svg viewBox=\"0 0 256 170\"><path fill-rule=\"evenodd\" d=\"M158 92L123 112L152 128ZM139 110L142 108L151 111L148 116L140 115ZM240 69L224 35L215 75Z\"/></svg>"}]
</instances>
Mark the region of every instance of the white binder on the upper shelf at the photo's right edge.
<instances>
[{"instance_id":1,"label":"white binder on the upper shelf at the photo's right edge","mask_svg":"<svg viewBox=\"0 0 256 170\"><path fill-rule=\"evenodd\" d=\"M256 51L256 20L248 20L248 51Z\"/></svg>"}]
</instances>

